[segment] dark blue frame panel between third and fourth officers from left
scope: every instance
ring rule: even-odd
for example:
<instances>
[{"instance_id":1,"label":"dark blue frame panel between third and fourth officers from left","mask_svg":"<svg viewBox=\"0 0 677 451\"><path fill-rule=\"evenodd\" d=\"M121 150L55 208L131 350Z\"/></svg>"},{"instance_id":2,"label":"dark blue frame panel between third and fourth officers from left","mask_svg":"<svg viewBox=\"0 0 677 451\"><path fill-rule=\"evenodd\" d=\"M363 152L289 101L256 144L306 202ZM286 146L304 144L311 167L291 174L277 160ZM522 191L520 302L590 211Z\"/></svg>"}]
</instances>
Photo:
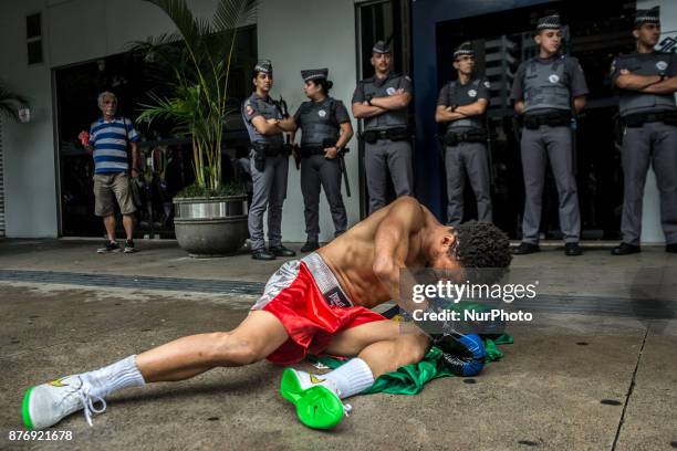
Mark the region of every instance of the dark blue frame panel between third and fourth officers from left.
<instances>
[{"instance_id":1,"label":"dark blue frame panel between third and fourth officers from left","mask_svg":"<svg viewBox=\"0 0 677 451\"><path fill-rule=\"evenodd\" d=\"M416 117L416 192L438 218L442 218L444 169L435 143L437 102L438 22L548 3L549 0L414 0L412 8L414 54L414 108Z\"/></svg>"}]
</instances>

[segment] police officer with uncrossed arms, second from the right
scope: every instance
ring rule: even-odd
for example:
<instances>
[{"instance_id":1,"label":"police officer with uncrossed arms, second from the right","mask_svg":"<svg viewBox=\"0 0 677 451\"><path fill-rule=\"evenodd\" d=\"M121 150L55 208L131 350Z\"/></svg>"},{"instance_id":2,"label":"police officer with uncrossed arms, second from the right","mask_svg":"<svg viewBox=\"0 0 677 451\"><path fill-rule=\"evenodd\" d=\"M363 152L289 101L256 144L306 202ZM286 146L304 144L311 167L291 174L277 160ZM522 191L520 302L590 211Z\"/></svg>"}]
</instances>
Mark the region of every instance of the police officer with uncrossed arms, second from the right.
<instances>
[{"instance_id":1,"label":"police officer with uncrossed arms, second from the right","mask_svg":"<svg viewBox=\"0 0 677 451\"><path fill-rule=\"evenodd\" d=\"M564 253L580 255L581 214L574 177L572 115L585 106L587 85L575 57L560 53L560 17L539 19L534 41L539 55L522 62L512 85L514 109L523 115L521 141L524 172L524 219L522 243L515 254L540 251L539 228L545 178L550 160L560 198L560 229Z\"/></svg>"}]
</instances>

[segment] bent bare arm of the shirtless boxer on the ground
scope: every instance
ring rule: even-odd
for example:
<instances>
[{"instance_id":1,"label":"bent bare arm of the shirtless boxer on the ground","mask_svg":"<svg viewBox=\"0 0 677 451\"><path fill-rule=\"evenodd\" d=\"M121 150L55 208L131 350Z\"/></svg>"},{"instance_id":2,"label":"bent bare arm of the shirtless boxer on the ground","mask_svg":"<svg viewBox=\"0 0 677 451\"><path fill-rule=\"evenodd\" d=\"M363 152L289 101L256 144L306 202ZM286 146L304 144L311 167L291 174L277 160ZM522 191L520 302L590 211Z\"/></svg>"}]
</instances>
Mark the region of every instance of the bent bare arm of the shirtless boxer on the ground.
<instances>
[{"instance_id":1,"label":"bent bare arm of the shirtless boxer on the ground","mask_svg":"<svg viewBox=\"0 0 677 451\"><path fill-rule=\"evenodd\" d=\"M424 227L424 211L410 197L397 199L378 224L374 237L374 263L372 270L388 294L402 308L412 312L416 304L400 296L400 272L406 269L409 238Z\"/></svg>"}]
</instances>

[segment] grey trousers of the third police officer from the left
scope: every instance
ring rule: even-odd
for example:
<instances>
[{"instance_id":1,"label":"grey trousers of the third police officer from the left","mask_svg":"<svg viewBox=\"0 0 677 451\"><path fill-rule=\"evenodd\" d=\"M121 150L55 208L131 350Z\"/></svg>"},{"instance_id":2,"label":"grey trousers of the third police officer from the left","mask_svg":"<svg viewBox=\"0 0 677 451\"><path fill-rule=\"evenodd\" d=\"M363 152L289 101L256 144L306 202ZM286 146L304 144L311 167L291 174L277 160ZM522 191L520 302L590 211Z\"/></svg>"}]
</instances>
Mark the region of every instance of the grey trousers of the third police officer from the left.
<instances>
[{"instance_id":1,"label":"grey trousers of the third police officer from the left","mask_svg":"<svg viewBox=\"0 0 677 451\"><path fill-rule=\"evenodd\" d=\"M364 144L364 167L369 191L369 213L387 203L387 174L390 172L395 195L414 193L414 170L412 168L412 144L408 140L378 139Z\"/></svg>"}]
</instances>

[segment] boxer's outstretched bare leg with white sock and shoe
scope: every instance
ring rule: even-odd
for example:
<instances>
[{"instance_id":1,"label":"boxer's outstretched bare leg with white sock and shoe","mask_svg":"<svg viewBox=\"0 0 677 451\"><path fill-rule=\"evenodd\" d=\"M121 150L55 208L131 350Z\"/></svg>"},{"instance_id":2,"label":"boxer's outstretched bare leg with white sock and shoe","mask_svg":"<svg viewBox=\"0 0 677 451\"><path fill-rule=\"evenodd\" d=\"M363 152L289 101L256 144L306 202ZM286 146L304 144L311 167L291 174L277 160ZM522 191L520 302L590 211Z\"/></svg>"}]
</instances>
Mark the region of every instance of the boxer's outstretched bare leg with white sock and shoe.
<instances>
[{"instance_id":1,"label":"boxer's outstretched bare leg with white sock and shoe","mask_svg":"<svg viewBox=\"0 0 677 451\"><path fill-rule=\"evenodd\" d=\"M44 429L84 408L105 410L105 398L114 391L147 382L184 380L215 367L249 365L262 360L288 338L282 323L263 311L251 312L233 331L198 334L167 343L113 365L31 387L23 398L23 422ZM96 408L95 403L101 403Z\"/></svg>"}]
</instances>

